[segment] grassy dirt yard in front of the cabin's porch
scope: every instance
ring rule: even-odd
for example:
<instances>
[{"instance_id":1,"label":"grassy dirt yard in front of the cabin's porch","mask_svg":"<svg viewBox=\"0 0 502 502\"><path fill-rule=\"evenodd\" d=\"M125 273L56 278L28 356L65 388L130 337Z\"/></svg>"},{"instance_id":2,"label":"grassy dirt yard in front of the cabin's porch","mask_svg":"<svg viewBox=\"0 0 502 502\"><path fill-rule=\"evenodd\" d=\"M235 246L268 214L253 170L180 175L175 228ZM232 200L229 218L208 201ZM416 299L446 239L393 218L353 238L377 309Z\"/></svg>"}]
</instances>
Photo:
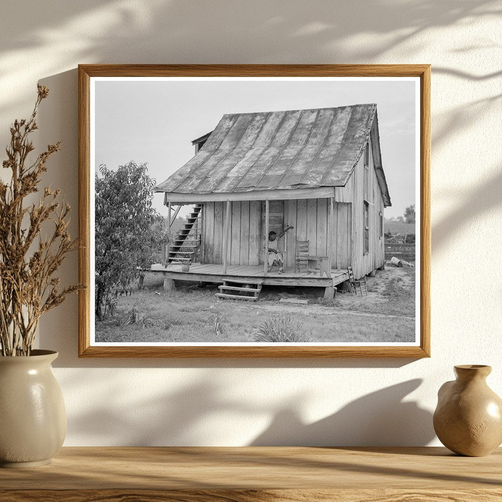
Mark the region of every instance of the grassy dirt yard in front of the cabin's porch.
<instances>
[{"instance_id":1,"label":"grassy dirt yard in front of the cabin's porch","mask_svg":"<svg viewBox=\"0 0 502 502\"><path fill-rule=\"evenodd\" d=\"M367 277L368 294L337 292L323 299L324 288L265 286L258 302L219 300L217 284L200 288L176 282L163 290L163 278L147 274L145 289L119 297L116 313L96 322L100 342L250 342L278 314L290 316L312 341L410 342L415 338L415 268L387 266ZM308 300L308 305L280 302Z\"/></svg>"}]
</instances>

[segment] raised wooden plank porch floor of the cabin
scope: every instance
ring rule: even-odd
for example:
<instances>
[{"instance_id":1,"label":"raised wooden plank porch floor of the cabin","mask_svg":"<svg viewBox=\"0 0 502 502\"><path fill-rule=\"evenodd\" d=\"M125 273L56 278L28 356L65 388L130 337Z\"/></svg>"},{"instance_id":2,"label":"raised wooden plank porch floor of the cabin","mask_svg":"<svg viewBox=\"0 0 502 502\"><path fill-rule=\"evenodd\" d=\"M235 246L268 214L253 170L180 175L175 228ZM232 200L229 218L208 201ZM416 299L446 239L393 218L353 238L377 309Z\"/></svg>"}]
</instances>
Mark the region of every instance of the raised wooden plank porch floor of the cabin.
<instances>
[{"instance_id":1,"label":"raised wooden plank porch floor of the cabin","mask_svg":"<svg viewBox=\"0 0 502 502\"><path fill-rule=\"evenodd\" d=\"M228 265L226 274L223 274L223 265L194 263L190 265L189 272L182 272L181 265L171 264L169 267L163 267L160 264L152 265L149 272L163 275L170 279L181 281L203 281L203 282L222 282L223 280L256 279L263 281L267 285L275 286L336 286L348 279L346 270L331 270L331 278L326 276L319 277L319 274L307 274L306 270L296 272L288 269L284 274L279 274L274 267L272 272L264 273L263 265Z\"/></svg>"}]
</instances>

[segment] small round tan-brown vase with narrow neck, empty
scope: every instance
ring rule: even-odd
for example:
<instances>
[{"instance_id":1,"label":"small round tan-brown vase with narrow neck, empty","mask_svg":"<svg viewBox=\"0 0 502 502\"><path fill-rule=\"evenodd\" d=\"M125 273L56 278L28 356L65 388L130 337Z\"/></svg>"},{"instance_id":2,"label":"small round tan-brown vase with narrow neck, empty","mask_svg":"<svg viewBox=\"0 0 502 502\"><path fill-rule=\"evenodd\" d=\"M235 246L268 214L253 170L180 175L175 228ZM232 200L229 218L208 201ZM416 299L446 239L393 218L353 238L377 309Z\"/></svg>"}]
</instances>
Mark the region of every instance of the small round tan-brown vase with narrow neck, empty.
<instances>
[{"instance_id":1,"label":"small round tan-brown vase with narrow neck, empty","mask_svg":"<svg viewBox=\"0 0 502 502\"><path fill-rule=\"evenodd\" d=\"M502 443L502 399L486 385L490 372L490 366L455 366L457 379L439 389L434 430L459 455L482 457Z\"/></svg>"}]
</instances>

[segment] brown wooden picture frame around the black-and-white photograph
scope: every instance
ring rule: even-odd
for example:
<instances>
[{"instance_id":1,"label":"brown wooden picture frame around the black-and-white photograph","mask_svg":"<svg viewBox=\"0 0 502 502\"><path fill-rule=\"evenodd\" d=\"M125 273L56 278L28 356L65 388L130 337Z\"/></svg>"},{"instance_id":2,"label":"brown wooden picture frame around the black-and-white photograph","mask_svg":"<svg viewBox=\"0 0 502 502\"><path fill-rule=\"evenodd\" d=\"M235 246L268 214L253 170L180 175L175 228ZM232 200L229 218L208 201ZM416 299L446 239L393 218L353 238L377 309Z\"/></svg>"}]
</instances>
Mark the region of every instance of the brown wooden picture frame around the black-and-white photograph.
<instances>
[{"instance_id":1,"label":"brown wooden picture frame around the black-and-white photograph","mask_svg":"<svg viewBox=\"0 0 502 502\"><path fill-rule=\"evenodd\" d=\"M407 357L430 356L430 65L121 65L78 67L79 357ZM420 343L364 346L95 346L90 314L90 88L93 77L418 77L420 79ZM369 140L368 140L369 141ZM167 196L167 194L166 194ZM322 195L326 197L326 195ZM167 199L166 199L167 200ZM229 200L229 199L227 199ZM329 200L329 199L328 199ZM331 197L333 204L334 197ZM230 203L226 203L226 221ZM266 199L267 209L269 199ZM329 208L329 202L328 202ZM224 211L225 212L225 211ZM329 213L332 217L333 212ZM268 215L268 212L267 212ZM382 212L379 217L383 218ZM169 218L171 221L171 218ZM381 223L382 224L382 223ZM267 217L267 231L268 217ZM332 228L332 227L331 227ZM268 232L267 232L268 233ZM225 257L227 256L224 253ZM224 273L227 264L223 261ZM265 268L265 275L267 274Z\"/></svg>"}]
</instances>

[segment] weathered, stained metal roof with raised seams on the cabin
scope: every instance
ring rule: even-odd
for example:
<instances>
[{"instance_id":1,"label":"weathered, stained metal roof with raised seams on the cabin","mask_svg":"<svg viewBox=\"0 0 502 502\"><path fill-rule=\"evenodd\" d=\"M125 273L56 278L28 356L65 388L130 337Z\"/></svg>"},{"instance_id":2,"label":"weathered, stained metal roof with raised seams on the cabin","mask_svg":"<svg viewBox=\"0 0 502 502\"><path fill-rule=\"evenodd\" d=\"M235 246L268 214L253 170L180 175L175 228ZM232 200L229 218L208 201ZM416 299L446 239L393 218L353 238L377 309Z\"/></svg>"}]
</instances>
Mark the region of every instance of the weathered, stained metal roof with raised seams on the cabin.
<instances>
[{"instance_id":1,"label":"weathered, stained metal roof with raised seams on the cabin","mask_svg":"<svg viewBox=\"0 0 502 502\"><path fill-rule=\"evenodd\" d=\"M205 194L343 186L375 112L376 104L356 104L223 115L199 152L156 191Z\"/></svg>"}]
</instances>

